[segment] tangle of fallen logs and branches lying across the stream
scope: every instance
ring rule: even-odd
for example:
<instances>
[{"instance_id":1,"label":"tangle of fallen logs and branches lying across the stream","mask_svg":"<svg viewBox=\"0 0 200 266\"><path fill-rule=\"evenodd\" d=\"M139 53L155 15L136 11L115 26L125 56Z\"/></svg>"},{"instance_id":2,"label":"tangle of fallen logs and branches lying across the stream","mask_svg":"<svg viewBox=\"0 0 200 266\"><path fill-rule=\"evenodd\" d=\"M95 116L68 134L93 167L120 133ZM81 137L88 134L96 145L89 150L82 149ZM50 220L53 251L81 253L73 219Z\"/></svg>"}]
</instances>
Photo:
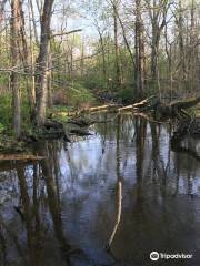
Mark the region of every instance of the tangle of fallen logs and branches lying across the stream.
<instances>
[{"instance_id":1,"label":"tangle of fallen logs and branches lying across the stream","mask_svg":"<svg viewBox=\"0 0 200 266\"><path fill-rule=\"evenodd\" d=\"M130 112L136 115L142 114L142 116L147 119L149 117L149 121L157 123L162 123L166 120L176 120L178 121L177 124L181 124L181 129L184 129L186 132L199 133L200 125L196 122L191 114L186 111L190 108L193 108L199 102L200 96L182 101L176 101L167 104L160 102L156 95L151 95L140 102L126 106L116 103L108 103L99 106L84 108L82 110L72 112L70 114L71 119L68 117L68 120L62 123L58 122L52 113L51 117L47 120L44 127L46 130L49 130L49 133L51 134L52 129L56 130L56 132L58 132L60 136L62 135L66 141L70 141L71 134L80 136L91 135L91 133L88 131L88 127L94 123L102 122L91 119L91 116L96 113L114 113L114 117L117 117L118 114ZM63 111L61 112L61 115L62 114ZM103 122L107 123L109 121Z\"/></svg>"}]
</instances>

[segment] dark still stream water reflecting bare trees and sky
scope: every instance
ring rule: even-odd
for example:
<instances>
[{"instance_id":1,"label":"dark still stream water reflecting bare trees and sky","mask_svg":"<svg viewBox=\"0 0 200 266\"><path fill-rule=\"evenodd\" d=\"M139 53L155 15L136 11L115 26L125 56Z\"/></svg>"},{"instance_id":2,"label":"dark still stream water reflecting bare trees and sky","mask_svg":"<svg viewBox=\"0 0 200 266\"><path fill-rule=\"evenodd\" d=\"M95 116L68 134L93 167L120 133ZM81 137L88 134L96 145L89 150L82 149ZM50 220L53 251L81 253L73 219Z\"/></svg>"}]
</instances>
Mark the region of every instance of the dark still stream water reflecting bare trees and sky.
<instances>
[{"instance_id":1,"label":"dark still stream water reflecting bare trees and sky","mask_svg":"<svg viewBox=\"0 0 200 266\"><path fill-rule=\"evenodd\" d=\"M0 163L0 265L200 265L200 142L171 150L169 125L131 115L93 131Z\"/></svg>"}]
</instances>

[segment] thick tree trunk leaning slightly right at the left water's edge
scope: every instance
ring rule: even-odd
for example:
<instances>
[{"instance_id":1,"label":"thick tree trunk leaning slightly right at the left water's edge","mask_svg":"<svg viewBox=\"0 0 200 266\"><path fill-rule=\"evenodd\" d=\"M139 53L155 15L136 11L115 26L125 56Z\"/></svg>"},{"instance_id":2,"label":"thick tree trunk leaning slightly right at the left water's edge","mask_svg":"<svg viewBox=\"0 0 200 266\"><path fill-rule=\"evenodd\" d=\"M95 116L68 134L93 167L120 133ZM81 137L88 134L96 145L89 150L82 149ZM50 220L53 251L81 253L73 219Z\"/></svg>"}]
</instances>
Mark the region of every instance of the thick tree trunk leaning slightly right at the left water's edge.
<instances>
[{"instance_id":1,"label":"thick tree trunk leaning slightly right at the left water's edge","mask_svg":"<svg viewBox=\"0 0 200 266\"><path fill-rule=\"evenodd\" d=\"M37 59L37 84L36 84L36 122L37 125L42 125L46 121L47 108L47 68L48 68L48 53L50 44L50 22L52 12L53 0L46 0L43 4L41 18L41 37L40 50Z\"/></svg>"}]
</instances>

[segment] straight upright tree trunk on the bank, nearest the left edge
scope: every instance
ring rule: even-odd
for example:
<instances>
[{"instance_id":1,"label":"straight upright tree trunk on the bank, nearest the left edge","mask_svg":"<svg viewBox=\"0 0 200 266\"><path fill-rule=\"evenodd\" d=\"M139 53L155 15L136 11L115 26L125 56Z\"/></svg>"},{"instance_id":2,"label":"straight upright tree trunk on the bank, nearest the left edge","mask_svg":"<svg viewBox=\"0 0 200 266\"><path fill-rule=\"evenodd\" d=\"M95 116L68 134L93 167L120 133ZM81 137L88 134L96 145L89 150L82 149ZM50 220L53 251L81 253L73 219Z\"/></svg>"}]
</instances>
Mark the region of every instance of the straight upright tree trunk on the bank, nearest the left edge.
<instances>
[{"instance_id":1,"label":"straight upright tree trunk on the bank, nearest the left edge","mask_svg":"<svg viewBox=\"0 0 200 266\"><path fill-rule=\"evenodd\" d=\"M19 27L20 27L20 0L12 0L11 2L11 21L10 21L10 47L12 68L19 65ZM11 89L12 89L12 112L13 112L13 130L17 137L21 135L21 96L18 82L18 73L11 73Z\"/></svg>"}]
</instances>

